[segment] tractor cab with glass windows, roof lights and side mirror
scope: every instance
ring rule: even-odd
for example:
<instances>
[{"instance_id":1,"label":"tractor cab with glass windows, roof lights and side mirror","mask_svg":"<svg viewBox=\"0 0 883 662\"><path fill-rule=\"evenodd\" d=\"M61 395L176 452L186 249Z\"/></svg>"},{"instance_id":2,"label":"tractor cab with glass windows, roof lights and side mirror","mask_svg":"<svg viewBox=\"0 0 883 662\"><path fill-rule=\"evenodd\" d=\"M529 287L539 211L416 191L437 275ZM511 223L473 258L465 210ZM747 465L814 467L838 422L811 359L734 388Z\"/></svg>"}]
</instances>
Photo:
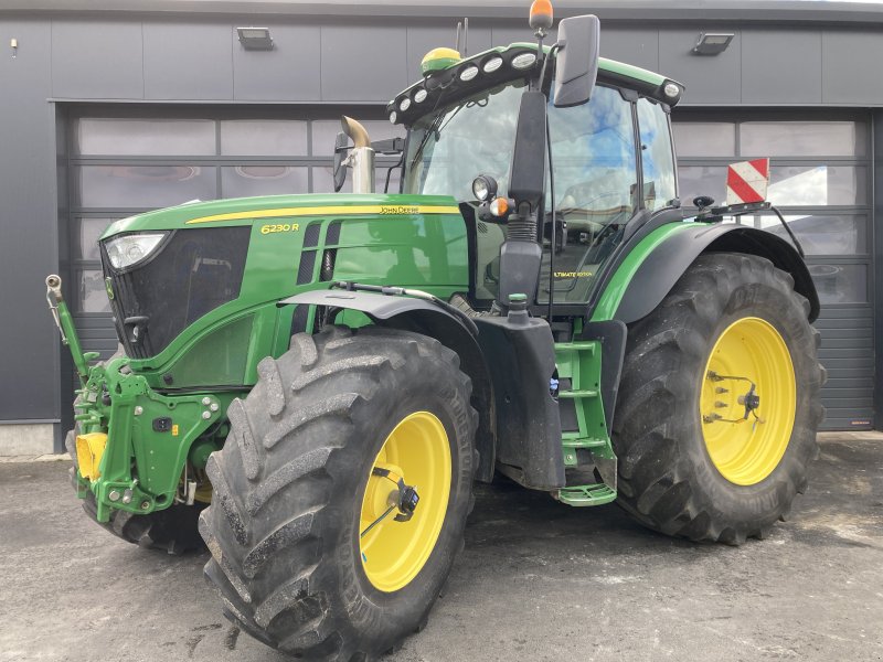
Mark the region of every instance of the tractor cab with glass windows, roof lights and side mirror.
<instances>
[{"instance_id":1,"label":"tractor cab with glass windows, roof lights and side mirror","mask_svg":"<svg viewBox=\"0 0 883 662\"><path fill-rule=\"evenodd\" d=\"M585 313L624 238L658 212L680 217L669 113L682 86L597 57L594 17L562 21L567 33L553 46L513 43L466 58L433 50L423 79L387 106L390 121L407 129L401 192L451 195L460 206L477 310L525 293L550 319ZM513 190L525 178L530 201Z\"/></svg>"}]
</instances>

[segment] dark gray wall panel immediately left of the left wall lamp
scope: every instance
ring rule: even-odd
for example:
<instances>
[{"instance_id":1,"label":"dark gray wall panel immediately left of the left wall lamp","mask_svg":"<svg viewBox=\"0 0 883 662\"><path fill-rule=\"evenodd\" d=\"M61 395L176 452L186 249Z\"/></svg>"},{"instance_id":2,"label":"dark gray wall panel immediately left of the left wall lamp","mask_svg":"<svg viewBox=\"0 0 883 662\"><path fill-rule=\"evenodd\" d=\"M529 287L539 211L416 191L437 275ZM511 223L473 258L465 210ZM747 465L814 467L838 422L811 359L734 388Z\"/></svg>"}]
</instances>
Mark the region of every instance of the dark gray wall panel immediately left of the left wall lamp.
<instances>
[{"instance_id":1,"label":"dark gray wall panel immediately left of the left wall lamp","mask_svg":"<svg viewBox=\"0 0 883 662\"><path fill-rule=\"evenodd\" d=\"M232 99L230 25L145 23L145 98Z\"/></svg>"}]
</instances>

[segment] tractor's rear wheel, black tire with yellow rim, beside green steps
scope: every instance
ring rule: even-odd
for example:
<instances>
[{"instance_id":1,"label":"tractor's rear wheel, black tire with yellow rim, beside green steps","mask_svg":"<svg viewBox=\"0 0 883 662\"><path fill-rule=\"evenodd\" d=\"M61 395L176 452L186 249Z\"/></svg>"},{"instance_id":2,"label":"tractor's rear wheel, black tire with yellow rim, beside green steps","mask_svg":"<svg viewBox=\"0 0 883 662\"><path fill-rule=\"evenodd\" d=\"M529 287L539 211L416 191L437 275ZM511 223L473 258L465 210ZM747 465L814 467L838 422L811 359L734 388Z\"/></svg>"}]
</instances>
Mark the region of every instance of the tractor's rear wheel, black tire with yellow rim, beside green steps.
<instances>
[{"instance_id":1,"label":"tractor's rear wheel, black tire with yellow rim, beside green steps","mask_svg":"<svg viewBox=\"0 0 883 662\"><path fill-rule=\"evenodd\" d=\"M741 544L787 515L823 417L808 311L769 260L705 254L629 328L613 442L639 522Z\"/></svg>"}]
</instances>

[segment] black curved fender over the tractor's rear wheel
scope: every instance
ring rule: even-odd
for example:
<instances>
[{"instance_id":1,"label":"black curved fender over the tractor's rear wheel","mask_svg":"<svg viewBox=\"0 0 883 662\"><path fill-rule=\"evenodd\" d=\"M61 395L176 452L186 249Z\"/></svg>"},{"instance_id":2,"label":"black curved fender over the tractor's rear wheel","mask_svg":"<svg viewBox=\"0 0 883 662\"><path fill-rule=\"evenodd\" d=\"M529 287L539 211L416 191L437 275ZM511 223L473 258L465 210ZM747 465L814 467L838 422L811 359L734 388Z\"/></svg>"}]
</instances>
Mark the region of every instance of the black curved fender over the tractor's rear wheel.
<instances>
[{"instance_id":1,"label":"black curved fender over the tractor's rear wheel","mask_svg":"<svg viewBox=\"0 0 883 662\"><path fill-rule=\"evenodd\" d=\"M711 252L746 253L770 260L778 269L791 275L795 290L809 301L809 321L819 317L819 297L809 269L785 239L763 229L720 223L672 224L655 232L660 231L669 232L661 238L656 237L655 242L651 242L655 234L651 233L632 249L641 252L645 244L651 244L649 248L643 247L646 254L615 306L613 319L629 324L649 314L695 258ZM610 308L608 302L608 310Z\"/></svg>"}]
</instances>

